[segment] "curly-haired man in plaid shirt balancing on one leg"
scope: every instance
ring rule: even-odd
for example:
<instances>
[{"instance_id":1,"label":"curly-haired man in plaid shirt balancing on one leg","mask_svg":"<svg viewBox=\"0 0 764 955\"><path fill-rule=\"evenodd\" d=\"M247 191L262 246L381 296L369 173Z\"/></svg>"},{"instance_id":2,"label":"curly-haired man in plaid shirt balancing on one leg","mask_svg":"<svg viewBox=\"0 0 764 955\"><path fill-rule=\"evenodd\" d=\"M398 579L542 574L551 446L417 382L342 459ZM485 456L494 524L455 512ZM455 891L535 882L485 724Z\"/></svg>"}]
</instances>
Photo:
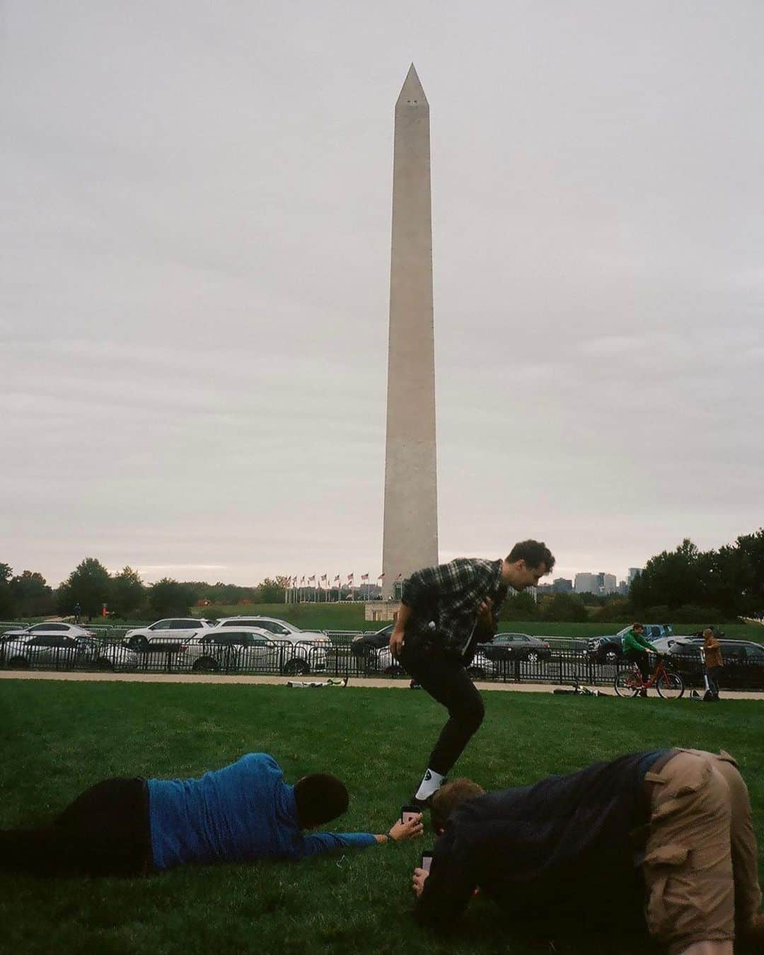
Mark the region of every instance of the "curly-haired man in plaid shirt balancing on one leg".
<instances>
[{"instance_id":1,"label":"curly-haired man in plaid shirt balancing on one leg","mask_svg":"<svg viewBox=\"0 0 764 955\"><path fill-rule=\"evenodd\" d=\"M503 560L457 558L414 571L403 582L390 650L449 713L413 797L425 806L482 723L482 697L467 675L478 643L496 634L507 588L535 586L555 559L546 544L520 541Z\"/></svg>"}]
</instances>

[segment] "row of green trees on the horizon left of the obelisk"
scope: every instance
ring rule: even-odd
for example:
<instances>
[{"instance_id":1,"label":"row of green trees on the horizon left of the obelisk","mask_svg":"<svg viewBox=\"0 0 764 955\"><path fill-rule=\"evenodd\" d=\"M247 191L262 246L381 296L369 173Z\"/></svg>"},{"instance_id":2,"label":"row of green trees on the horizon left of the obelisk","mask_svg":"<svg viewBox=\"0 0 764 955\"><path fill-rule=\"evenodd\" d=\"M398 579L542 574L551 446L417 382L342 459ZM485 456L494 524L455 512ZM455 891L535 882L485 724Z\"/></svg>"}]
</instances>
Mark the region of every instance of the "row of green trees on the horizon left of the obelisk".
<instances>
[{"instance_id":1,"label":"row of green trees on the horizon left of the obelisk","mask_svg":"<svg viewBox=\"0 0 764 955\"><path fill-rule=\"evenodd\" d=\"M69 616L77 605L83 617L100 616L106 605L111 616L128 620L182 615L201 603L278 604L284 601L285 583L284 578L265 579L257 587L240 587L203 581L180 583L165 577L147 585L132 567L110 574L95 557L88 557L53 589L42 574L25 570L13 576L11 566L0 563L0 619L55 613Z\"/></svg>"}]
</instances>

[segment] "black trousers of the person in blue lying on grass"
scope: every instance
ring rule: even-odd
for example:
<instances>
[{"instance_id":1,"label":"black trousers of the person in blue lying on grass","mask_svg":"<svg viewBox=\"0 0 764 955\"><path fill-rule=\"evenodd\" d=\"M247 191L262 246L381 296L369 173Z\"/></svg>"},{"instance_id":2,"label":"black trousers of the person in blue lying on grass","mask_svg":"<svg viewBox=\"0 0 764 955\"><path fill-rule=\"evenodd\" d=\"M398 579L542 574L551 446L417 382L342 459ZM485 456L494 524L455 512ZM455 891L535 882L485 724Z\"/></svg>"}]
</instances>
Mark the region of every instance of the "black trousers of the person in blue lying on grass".
<instances>
[{"instance_id":1,"label":"black trousers of the person in blue lying on grass","mask_svg":"<svg viewBox=\"0 0 764 955\"><path fill-rule=\"evenodd\" d=\"M0 830L0 871L138 876L152 868L145 779L104 779L50 825Z\"/></svg>"}]
</instances>

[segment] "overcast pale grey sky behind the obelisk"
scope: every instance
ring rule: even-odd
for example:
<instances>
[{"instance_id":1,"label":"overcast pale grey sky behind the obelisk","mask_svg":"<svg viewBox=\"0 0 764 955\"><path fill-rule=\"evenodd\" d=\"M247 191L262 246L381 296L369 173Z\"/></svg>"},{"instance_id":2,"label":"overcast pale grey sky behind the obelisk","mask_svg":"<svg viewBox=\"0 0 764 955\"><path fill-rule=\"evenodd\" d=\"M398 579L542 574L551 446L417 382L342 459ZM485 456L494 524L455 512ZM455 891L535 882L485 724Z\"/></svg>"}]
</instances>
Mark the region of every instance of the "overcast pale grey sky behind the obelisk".
<instances>
[{"instance_id":1,"label":"overcast pale grey sky behind the obelisk","mask_svg":"<svg viewBox=\"0 0 764 955\"><path fill-rule=\"evenodd\" d=\"M14 572L379 573L412 60L441 560L621 577L764 522L758 0L2 11Z\"/></svg>"}]
</instances>

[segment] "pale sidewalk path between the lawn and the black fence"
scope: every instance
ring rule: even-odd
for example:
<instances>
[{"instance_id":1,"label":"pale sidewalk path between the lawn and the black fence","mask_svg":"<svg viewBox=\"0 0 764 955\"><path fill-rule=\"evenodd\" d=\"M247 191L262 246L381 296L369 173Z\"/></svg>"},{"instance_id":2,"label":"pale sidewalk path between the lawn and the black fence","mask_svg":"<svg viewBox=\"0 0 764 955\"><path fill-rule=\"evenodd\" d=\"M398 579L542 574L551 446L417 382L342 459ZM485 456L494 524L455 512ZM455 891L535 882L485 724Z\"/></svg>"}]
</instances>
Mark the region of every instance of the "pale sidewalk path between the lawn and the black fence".
<instances>
[{"instance_id":1,"label":"pale sidewalk path between the lawn and the black fence","mask_svg":"<svg viewBox=\"0 0 764 955\"><path fill-rule=\"evenodd\" d=\"M253 674L236 675L220 673L65 673L46 670L0 670L0 679L3 680L75 680L79 682L100 683L246 683L265 684L276 687L286 687L289 682L312 682L311 677L300 677L295 680L288 676L255 676ZM336 678L335 678L336 679ZM317 677L315 682L323 682L324 677ZM351 677L348 686L353 690L371 688L373 690L408 690L408 680L372 679L371 677ZM498 690L520 693L553 693L561 689L555 683L488 683L476 681L478 690ZM570 689L562 685L562 689ZM612 687L592 687L600 690L607 696L614 696ZM422 690L424 692L424 690ZM650 694L654 695L654 694ZM685 698L687 699L687 692ZM764 692L756 690L722 690L724 700L764 700Z\"/></svg>"}]
</instances>

